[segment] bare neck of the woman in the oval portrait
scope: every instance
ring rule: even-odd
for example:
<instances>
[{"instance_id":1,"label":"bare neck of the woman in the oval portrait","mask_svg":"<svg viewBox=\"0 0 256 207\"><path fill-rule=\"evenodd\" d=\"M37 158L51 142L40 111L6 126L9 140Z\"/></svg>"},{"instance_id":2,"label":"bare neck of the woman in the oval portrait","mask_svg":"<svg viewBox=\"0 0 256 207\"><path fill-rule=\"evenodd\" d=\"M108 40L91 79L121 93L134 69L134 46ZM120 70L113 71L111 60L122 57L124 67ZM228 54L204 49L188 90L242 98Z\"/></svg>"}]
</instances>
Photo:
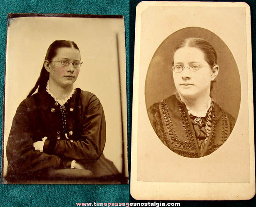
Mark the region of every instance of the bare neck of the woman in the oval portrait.
<instances>
[{"instance_id":1,"label":"bare neck of the woman in the oval portrait","mask_svg":"<svg viewBox=\"0 0 256 207\"><path fill-rule=\"evenodd\" d=\"M209 105L209 99L210 99L210 94L204 94L203 96L199 96L196 98L189 98L189 97L184 97L181 94L179 94L181 101L183 101L186 106L195 111L196 113L199 113L204 110L208 110L208 105Z\"/></svg>"}]
</instances>

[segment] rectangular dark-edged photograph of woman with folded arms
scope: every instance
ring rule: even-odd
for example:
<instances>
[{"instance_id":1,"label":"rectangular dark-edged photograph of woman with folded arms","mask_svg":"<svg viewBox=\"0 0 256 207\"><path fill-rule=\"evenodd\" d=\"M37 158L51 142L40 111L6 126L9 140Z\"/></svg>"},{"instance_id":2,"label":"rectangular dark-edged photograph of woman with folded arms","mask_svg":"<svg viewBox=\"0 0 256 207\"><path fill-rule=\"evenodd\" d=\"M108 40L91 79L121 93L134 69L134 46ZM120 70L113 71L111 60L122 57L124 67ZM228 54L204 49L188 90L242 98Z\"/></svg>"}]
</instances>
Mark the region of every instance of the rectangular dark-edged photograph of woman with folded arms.
<instances>
[{"instance_id":1,"label":"rectangular dark-edged photograph of woman with folded arms","mask_svg":"<svg viewBox=\"0 0 256 207\"><path fill-rule=\"evenodd\" d=\"M123 16L8 15L4 184L125 184Z\"/></svg>"}]
</instances>

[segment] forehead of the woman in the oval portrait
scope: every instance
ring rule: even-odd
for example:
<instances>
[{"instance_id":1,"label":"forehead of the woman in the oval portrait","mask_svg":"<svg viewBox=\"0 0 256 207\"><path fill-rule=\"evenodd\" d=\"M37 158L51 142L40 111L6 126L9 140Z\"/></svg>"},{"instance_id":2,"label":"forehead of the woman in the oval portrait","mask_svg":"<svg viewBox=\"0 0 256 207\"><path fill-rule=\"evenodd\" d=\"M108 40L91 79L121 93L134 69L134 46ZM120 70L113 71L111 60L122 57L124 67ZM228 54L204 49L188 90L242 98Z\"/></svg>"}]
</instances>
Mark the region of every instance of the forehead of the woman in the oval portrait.
<instances>
[{"instance_id":1,"label":"forehead of the woman in the oval portrait","mask_svg":"<svg viewBox=\"0 0 256 207\"><path fill-rule=\"evenodd\" d=\"M181 47L174 53L174 62L206 62L204 52L196 47Z\"/></svg>"}]
</instances>

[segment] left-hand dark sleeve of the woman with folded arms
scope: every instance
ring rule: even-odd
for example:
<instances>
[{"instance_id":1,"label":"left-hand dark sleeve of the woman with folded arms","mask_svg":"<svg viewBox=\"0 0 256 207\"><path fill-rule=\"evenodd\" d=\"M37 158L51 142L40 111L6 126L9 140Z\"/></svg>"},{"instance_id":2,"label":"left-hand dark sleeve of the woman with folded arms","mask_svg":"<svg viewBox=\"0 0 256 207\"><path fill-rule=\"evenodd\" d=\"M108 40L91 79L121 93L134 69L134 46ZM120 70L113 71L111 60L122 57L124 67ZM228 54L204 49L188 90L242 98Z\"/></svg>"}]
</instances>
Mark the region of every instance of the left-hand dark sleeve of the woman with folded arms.
<instances>
[{"instance_id":1,"label":"left-hand dark sleeve of the woman with folded arms","mask_svg":"<svg viewBox=\"0 0 256 207\"><path fill-rule=\"evenodd\" d=\"M6 146L8 163L20 173L34 172L46 168L57 168L60 158L35 150L33 147L32 126L25 101L20 103L12 121L12 127Z\"/></svg>"}]
</instances>

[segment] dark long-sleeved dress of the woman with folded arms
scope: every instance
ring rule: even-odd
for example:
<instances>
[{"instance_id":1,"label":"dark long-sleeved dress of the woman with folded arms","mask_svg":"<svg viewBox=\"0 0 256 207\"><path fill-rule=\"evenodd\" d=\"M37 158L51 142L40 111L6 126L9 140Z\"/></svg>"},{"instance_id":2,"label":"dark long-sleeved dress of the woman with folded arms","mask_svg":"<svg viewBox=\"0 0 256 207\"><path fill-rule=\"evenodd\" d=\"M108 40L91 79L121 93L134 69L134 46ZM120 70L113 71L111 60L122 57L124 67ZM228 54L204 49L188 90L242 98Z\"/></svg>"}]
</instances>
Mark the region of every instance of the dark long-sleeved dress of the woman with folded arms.
<instances>
[{"instance_id":1,"label":"dark long-sleeved dress of the woman with folded arms","mask_svg":"<svg viewBox=\"0 0 256 207\"><path fill-rule=\"evenodd\" d=\"M41 153L33 143L43 137L47 140ZM6 146L7 178L47 179L56 170L70 170L72 160L91 172L89 177L117 175L114 164L102 154L105 137L103 108L94 94L77 88L61 106L47 91L40 91L22 101L13 118Z\"/></svg>"}]
</instances>

